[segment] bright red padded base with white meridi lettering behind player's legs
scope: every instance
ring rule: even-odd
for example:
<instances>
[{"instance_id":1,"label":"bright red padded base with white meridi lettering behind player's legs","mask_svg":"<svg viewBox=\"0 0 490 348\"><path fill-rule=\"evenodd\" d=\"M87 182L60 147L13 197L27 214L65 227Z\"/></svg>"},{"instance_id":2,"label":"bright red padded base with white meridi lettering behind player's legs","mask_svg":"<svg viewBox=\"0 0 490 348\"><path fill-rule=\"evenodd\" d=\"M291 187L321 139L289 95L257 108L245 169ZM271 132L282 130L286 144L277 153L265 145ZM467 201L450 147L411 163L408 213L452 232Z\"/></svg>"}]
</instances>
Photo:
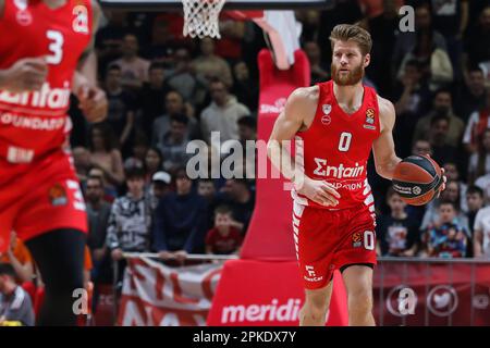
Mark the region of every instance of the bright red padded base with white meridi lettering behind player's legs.
<instances>
[{"instance_id":1,"label":"bright red padded base with white meridi lettering behind player's legs","mask_svg":"<svg viewBox=\"0 0 490 348\"><path fill-rule=\"evenodd\" d=\"M333 282L327 325L346 325L346 295L339 272ZM304 297L296 261L228 261L209 311L208 325L297 326Z\"/></svg>"}]
</instances>

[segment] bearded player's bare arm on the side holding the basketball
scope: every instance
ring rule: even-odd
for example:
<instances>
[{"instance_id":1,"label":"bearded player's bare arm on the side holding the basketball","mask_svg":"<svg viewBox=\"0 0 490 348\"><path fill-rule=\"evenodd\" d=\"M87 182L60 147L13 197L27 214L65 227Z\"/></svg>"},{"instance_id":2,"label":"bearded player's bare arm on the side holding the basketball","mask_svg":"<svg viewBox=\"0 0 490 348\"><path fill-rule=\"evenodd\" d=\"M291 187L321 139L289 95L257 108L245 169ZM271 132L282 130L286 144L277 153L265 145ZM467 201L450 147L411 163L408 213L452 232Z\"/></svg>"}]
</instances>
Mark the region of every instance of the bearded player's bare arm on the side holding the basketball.
<instances>
[{"instance_id":1,"label":"bearded player's bare arm on the side holding the basketball","mask_svg":"<svg viewBox=\"0 0 490 348\"><path fill-rule=\"evenodd\" d=\"M380 136L372 142L376 172L388 179L393 178L395 166L402 161L394 150L393 127L395 110L391 101L378 96Z\"/></svg>"}]
</instances>

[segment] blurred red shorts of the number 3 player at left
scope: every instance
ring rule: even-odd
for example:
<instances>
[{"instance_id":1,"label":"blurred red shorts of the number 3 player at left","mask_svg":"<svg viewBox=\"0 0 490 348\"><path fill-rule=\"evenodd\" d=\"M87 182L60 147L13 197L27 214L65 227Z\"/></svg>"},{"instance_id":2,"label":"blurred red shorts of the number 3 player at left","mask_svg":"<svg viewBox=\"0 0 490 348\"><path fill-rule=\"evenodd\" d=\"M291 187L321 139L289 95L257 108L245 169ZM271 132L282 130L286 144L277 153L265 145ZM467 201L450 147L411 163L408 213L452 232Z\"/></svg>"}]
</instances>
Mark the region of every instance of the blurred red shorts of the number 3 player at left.
<instances>
[{"instance_id":1,"label":"blurred red shorts of the number 3 player at left","mask_svg":"<svg viewBox=\"0 0 490 348\"><path fill-rule=\"evenodd\" d=\"M23 240L57 228L87 232L85 202L70 157L54 152L34 163L0 159L0 252L11 231Z\"/></svg>"}]
</instances>

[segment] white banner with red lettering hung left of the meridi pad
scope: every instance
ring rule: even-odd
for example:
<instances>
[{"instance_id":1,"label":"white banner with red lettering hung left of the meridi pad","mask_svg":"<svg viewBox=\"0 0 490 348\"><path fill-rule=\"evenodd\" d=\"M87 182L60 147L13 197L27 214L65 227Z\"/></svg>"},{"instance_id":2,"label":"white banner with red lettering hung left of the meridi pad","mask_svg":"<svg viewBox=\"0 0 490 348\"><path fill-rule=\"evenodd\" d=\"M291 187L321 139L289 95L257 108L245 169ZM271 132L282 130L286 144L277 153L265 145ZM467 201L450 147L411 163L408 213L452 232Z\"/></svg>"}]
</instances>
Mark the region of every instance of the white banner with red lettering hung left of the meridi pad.
<instances>
[{"instance_id":1,"label":"white banner with red lettering hung left of the meridi pad","mask_svg":"<svg viewBox=\"0 0 490 348\"><path fill-rule=\"evenodd\" d=\"M169 268L145 258L127 261L119 325L206 325L221 263Z\"/></svg>"}]
</instances>

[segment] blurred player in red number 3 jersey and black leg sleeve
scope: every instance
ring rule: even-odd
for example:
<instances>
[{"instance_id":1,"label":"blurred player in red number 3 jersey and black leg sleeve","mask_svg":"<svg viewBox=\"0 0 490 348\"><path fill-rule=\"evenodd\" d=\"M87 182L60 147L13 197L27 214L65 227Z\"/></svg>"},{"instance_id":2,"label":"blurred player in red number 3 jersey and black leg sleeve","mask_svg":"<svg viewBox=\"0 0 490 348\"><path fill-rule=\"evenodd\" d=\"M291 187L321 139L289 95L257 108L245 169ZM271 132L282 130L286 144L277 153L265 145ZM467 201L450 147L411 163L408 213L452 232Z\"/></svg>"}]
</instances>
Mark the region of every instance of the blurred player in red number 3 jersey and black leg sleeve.
<instances>
[{"instance_id":1,"label":"blurred player in red number 3 jersey and black leg sleeve","mask_svg":"<svg viewBox=\"0 0 490 348\"><path fill-rule=\"evenodd\" d=\"M40 325L75 325L87 219L66 149L70 94L88 121L107 114L96 87L95 0L0 0L0 252L14 229L45 282ZM76 73L75 73L76 71Z\"/></svg>"}]
</instances>

